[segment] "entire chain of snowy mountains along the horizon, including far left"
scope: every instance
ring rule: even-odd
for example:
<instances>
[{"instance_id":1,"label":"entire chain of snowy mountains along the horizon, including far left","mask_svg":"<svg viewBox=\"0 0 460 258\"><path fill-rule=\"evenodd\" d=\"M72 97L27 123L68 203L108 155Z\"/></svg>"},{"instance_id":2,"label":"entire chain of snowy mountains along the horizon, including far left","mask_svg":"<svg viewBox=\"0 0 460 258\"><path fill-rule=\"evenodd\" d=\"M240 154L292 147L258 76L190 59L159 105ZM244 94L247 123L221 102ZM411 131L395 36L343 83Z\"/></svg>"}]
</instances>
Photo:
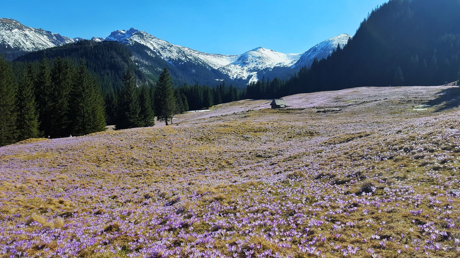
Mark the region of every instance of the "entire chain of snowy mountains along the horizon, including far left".
<instances>
[{"instance_id":1,"label":"entire chain of snowy mountains along the horizon, including far left","mask_svg":"<svg viewBox=\"0 0 460 258\"><path fill-rule=\"evenodd\" d=\"M351 39L350 35L340 34L298 54L284 54L258 47L241 55L209 54L197 51L174 45L135 28L115 30L106 38L93 37L91 40L117 41L132 47L141 45L141 49L149 56L159 56L174 66L199 65L217 69L227 74L230 79L243 79L251 82L258 80L257 73L266 69L309 66L315 58L321 59L330 55L337 45L341 47L346 45L349 39ZM72 39L40 28L27 27L13 19L0 18L0 52L36 51L80 40L83 38Z\"/></svg>"}]
</instances>

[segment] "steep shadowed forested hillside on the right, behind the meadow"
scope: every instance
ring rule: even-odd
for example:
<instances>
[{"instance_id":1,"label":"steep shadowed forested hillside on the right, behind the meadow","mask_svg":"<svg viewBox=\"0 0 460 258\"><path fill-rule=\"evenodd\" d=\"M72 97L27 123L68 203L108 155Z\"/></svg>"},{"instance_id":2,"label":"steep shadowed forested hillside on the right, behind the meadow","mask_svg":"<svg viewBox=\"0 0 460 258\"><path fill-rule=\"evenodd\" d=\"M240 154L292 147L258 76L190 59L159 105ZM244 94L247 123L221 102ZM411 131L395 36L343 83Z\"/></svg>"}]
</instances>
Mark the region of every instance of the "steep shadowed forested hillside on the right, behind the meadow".
<instances>
[{"instance_id":1,"label":"steep shadowed forested hillside on the right, behind the meadow","mask_svg":"<svg viewBox=\"0 0 460 258\"><path fill-rule=\"evenodd\" d=\"M459 10L458 0L391 0L364 19L343 49L266 95L455 81L460 67Z\"/></svg>"}]
</instances>

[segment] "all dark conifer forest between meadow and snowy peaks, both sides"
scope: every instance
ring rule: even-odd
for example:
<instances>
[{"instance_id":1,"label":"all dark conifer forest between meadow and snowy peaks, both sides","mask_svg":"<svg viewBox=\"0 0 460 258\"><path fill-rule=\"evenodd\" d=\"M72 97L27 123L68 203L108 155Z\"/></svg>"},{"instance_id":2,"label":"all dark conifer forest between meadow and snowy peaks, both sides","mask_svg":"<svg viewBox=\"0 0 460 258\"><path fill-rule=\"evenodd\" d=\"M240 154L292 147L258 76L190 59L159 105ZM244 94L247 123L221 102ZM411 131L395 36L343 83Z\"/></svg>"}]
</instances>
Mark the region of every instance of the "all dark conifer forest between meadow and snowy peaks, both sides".
<instances>
[{"instance_id":1,"label":"all dark conifer forest between meadow and snowy peaks, both sides","mask_svg":"<svg viewBox=\"0 0 460 258\"><path fill-rule=\"evenodd\" d=\"M431 11L424 11L427 8ZM177 113L244 98L460 80L459 8L453 0L391 0L372 11L353 39L344 48L337 46L328 58L300 68L287 80L260 74L262 79L246 88L227 86L225 81L211 86L182 83L190 79L175 68L146 74L133 61L142 52L139 46L132 47L137 53L133 55L117 42L83 40L32 52L14 62L3 58L0 145L85 135L105 130L106 124L116 129L152 126L154 117L168 123ZM159 60L151 57L150 62L163 62Z\"/></svg>"}]
</instances>

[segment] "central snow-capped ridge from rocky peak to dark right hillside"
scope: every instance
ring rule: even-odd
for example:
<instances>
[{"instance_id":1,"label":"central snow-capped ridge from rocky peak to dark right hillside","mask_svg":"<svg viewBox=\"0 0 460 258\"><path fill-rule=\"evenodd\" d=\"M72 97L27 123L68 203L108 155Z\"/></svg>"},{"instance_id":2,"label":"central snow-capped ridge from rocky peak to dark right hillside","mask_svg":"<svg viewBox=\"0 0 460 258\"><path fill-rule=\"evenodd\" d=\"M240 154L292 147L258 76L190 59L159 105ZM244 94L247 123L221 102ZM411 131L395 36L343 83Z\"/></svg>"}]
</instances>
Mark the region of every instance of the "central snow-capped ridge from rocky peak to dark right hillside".
<instances>
[{"instance_id":1,"label":"central snow-capped ridge from rocky peak to dark right hillside","mask_svg":"<svg viewBox=\"0 0 460 258\"><path fill-rule=\"evenodd\" d=\"M340 34L299 54L284 54L258 47L241 55L204 53L188 47L171 44L135 28L114 31L105 40L118 41L125 45L141 44L148 48L146 51L149 55L160 56L163 60L173 65L191 62L218 69L231 79L249 79L251 82L258 79L257 73L259 71L267 68L311 65L315 58L327 57L337 48L338 44L343 47L350 38L351 36L348 34Z\"/></svg>"}]
</instances>

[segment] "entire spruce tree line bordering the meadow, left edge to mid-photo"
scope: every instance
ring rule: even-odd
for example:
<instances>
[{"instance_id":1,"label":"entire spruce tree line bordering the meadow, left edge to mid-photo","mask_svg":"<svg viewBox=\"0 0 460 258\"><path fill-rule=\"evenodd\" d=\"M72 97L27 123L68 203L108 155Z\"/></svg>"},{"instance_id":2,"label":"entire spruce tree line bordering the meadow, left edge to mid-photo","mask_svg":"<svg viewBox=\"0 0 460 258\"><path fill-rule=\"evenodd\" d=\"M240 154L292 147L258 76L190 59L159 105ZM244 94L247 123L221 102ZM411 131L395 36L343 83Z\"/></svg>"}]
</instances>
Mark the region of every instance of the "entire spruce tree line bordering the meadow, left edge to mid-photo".
<instances>
[{"instance_id":1,"label":"entire spruce tree line bordering the meadow, left edge to mid-photo","mask_svg":"<svg viewBox=\"0 0 460 258\"><path fill-rule=\"evenodd\" d=\"M0 146L29 138L59 138L115 129L173 123L174 115L244 98L245 91L220 84L174 87L168 69L154 86L139 82L131 69L120 90L103 90L84 60L12 63L0 58Z\"/></svg>"}]
</instances>

